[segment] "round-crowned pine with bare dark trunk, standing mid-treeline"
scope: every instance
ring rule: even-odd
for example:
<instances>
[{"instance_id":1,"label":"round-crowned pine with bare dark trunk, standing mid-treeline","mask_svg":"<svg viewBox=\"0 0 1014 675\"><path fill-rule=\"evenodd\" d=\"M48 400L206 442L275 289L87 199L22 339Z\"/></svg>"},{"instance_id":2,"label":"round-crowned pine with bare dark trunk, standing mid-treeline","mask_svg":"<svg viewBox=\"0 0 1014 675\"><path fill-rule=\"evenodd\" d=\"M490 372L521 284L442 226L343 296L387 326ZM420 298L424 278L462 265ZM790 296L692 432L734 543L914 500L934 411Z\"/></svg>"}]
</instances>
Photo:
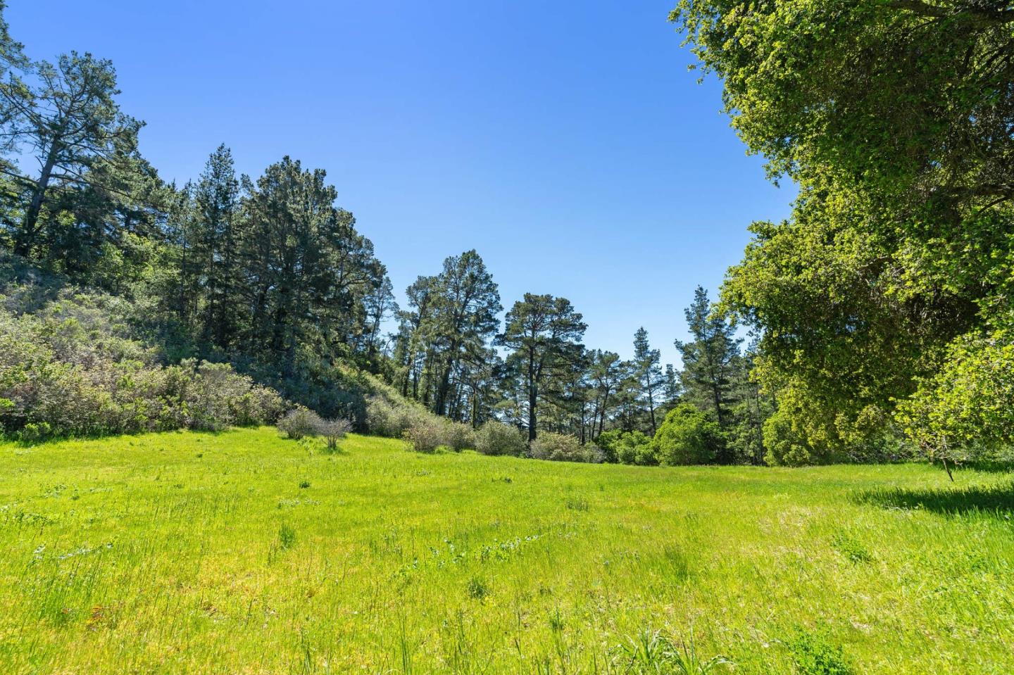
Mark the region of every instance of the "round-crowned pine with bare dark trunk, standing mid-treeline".
<instances>
[{"instance_id":1,"label":"round-crowned pine with bare dark trunk, standing mid-treeline","mask_svg":"<svg viewBox=\"0 0 1014 675\"><path fill-rule=\"evenodd\" d=\"M497 344L512 352L508 361L521 374L527 404L528 441L538 427L542 384L568 373L584 354L581 339L587 324L566 298L525 293L507 312Z\"/></svg>"}]
</instances>

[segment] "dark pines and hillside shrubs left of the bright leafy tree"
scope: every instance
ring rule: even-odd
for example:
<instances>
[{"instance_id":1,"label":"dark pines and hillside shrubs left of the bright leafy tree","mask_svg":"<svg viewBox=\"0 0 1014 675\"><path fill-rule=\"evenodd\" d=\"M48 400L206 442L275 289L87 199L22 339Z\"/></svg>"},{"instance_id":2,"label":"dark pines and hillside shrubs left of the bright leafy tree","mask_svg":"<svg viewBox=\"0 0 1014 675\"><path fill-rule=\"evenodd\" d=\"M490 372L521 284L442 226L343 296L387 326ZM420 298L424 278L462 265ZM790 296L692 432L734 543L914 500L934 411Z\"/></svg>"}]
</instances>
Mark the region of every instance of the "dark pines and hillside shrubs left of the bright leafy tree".
<instances>
[{"instance_id":1,"label":"dark pines and hillside shrubs left of the bright leafy tree","mask_svg":"<svg viewBox=\"0 0 1014 675\"><path fill-rule=\"evenodd\" d=\"M204 415L176 424L170 421L192 410L193 401L142 393L115 376L130 371L130 382L155 381L184 364L179 372L196 383L217 363L231 366L220 371L229 377L240 377L234 370L322 416L405 435L418 448L674 462L678 452L651 443L672 426L666 416L682 401L702 416L680 421L715 428L707 427L707 448L680 461L762 460L757 439L770 400L750 384L749 357L740 354L728 321L711 315L703 291L687 314L694 341L676 345L682 372L663 370L643 328L631 361L586 348L586 325L565 298L525 294L501 320L497 284L475 250L420 277L402 309L372 244L337 206L322 170L284 157L259 177L239 175L223 145L196 179L167 184L139 152L143 125L120 109L111 63L76 53L56 64L32 63L4 30L0 236L13 255L4 265L64 285L52 285L47 302L29 307L14 299L24 295L25 275L8 274L6 325L34 334L68 312L74 321L89 317L84 328L64 330L76 351L29 359L21 341L20 351L10 352L0 392L10 401L8 433L220 427L272 421L283 411L273 404L263 416ZM67 288L89 290L68 305ZM121 308L117 327L92 311L113 299ZM104 352L102 367L94 368L79 357L94 355L84 341L121 347ZM132 350L145 355L140 365L128 357ZM116 354L133 365L118 363ZM58 362L66 377L51 378L41 396L33 384L46 377L31 364L46 360ZM364 380L365 373L391 388ZM78 391L79 404L57 395L61 387ZM130 407L132 395L147 402L130 408L136 415L125 422L117 405ZM165 410L153 411L159 405ZM67 413L56 416L61 407ZM89 414L88 423L71 420L78 415L71 410L88 417L85 409L101 413ZM617 452L618 442L636 447L636 457Z\"/></svg>"}]
</instances>

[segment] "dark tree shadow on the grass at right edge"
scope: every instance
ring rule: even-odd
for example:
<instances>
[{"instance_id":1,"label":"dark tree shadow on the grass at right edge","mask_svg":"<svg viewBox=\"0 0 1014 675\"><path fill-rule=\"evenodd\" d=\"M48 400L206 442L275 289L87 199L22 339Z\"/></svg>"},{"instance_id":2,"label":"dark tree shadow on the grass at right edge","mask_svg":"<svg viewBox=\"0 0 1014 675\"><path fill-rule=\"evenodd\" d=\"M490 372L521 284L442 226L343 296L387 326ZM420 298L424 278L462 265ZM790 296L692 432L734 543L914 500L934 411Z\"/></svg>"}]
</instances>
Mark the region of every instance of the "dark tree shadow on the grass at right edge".
<instances>
[{"instance_id":1,"label":"dark tree shadow on the grass at right edge","mask_svg":"<svg viewBox=\"0 0 1014 675\"><path fill-rule=\"evenodd\" d=\"M971 485L943 490L867 490L857 493L859 504L884 509L923 510L933 513L962 514L988 512L998 515L1014 513L1014 483Z\"/></svg>"}]
</instances>

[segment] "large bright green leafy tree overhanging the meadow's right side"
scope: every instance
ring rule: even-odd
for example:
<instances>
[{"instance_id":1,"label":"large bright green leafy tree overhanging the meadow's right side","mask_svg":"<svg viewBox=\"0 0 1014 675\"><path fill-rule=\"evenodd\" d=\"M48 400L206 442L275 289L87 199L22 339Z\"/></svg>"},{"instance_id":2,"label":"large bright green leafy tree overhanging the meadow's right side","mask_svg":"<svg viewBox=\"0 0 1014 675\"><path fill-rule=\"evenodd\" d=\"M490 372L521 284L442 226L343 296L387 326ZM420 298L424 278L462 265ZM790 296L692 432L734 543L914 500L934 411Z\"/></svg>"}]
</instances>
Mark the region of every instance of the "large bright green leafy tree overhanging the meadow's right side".
<instances>
[{"instance_id":1,"label":"large bright green leafy tree overhanging the meadow's right side","mask_svg":"<svg viewBox=\"0 0 1014 675\"><path fill-rule=\"evenodd\" d=\"M800 188L723 292L762 334L778 445L863 454L949 344L1014 322L1014 9L682 0L671 18L749 150Z\"/></svg>"}]
</instances>

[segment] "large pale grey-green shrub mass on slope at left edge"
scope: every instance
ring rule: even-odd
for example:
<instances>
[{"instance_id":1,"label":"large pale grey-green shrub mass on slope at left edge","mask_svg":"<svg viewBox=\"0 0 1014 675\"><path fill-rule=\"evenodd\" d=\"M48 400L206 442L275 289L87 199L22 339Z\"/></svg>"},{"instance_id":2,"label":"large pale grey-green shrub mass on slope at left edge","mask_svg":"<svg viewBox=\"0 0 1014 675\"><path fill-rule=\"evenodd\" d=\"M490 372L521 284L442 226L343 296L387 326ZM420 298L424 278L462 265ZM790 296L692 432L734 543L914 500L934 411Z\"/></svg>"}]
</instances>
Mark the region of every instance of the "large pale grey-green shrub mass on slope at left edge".
<instances>
[{"instance_id":1,"label":"large pale grey-green shrub mass on slope at left edge","mask_svg":"<svg viewBox=\"0 0 1014 675\"><path fill-rule=\"evenodd\" d=\"M24 440L274 423L286 407L227 364L159 363L102 297L61 294L33 314L0 306L0 425Z\"/></svg>"}]
</instances>

